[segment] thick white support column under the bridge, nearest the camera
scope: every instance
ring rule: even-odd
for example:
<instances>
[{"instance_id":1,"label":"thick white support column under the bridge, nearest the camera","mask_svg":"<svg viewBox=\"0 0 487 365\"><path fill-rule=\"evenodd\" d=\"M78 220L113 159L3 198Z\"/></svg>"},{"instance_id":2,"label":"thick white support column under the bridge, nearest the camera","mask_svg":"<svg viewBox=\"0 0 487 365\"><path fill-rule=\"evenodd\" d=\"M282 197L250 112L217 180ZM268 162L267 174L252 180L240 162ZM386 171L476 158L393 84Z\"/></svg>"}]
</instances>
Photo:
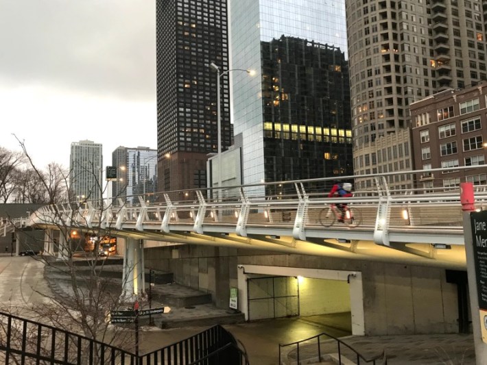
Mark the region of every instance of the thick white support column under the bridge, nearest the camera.
<instances>
[{"instance_id":1,"label":"thick white support column under the bridge, nearest the camera","mask_svg":"<svg viewBox=\"0 0 487 365\"><path fill-rule=\"evenodd\" d=\"M123 255L121 301L134 301L136 297L145 293L142 244L143 240L127 239Z\"/></svg>"}]
</instances>

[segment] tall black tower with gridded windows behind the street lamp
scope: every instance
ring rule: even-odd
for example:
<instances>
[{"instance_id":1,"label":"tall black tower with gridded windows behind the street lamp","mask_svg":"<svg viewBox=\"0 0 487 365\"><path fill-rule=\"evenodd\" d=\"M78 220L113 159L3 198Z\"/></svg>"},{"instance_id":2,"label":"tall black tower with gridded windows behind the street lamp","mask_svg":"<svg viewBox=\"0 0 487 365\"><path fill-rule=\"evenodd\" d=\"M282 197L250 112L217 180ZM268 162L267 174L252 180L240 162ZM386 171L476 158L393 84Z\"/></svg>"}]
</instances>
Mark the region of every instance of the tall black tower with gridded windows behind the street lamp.
<instances>
[{"instance_id":1,"label":"tall black tower with gridded windows behind the street lamp","mask_svg":"<svg viewBox=\"0 0 487 365\"><path fill-rule=\"evenodd\" d=\"M206 155L217 152L217 75L209 64L228 70L226 0L158 0L156 21L158 187L201 188ZM220 84L224 151L231 138L228 74Z\"/></svg>"}]
</instances>

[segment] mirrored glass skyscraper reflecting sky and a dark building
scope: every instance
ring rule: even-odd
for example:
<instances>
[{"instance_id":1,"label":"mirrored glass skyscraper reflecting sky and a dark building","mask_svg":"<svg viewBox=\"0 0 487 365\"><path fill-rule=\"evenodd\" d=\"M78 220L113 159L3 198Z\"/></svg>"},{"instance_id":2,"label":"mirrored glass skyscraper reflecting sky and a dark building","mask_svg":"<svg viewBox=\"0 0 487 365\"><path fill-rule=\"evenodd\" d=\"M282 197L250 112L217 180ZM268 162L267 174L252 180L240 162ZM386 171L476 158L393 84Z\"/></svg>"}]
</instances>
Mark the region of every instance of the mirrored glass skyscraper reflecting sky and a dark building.
<instances>
[{"instance_id":1,"label":"mirrored glass skyscraper reflecting sky and a dark building","mask_svg":"<svg viewBox=\"0 0 487 365\"><path fill-rule=\"evenodd\" d=\"M344 4L230 0L244 184L352 173ZM257 25L257 26L256 26Z\"/></svg>"}]
</instances>

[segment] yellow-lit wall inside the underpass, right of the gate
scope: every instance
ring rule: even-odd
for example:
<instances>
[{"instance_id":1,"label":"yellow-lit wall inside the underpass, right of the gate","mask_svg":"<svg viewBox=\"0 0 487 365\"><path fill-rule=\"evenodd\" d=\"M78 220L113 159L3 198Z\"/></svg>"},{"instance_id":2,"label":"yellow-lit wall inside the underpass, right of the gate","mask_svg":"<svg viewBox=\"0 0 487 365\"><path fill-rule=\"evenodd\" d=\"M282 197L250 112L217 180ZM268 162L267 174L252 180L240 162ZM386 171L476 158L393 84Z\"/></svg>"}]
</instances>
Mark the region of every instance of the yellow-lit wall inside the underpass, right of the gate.
<instances>
[{"instance_id":1,"label":"yellow-lit wall inside the underpass, right of the gate","mask_svg":"<svg viewBox=\"0 0 487 365\"><path fill-rule=\"evenodd\" d=\"M299 284L300 315L350 312L349 291L346 281L302 278Z\"/></svg>"}]
</instances>

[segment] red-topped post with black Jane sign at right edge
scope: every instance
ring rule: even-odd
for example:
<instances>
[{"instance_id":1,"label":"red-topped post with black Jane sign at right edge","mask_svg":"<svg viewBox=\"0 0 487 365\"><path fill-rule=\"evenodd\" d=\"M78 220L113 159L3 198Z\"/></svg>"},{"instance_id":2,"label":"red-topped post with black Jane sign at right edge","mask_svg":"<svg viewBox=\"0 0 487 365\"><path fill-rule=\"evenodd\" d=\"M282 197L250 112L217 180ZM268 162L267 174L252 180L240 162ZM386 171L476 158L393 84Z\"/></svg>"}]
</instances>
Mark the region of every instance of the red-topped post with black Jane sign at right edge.
<instances>
[{"instance_id":1,"label":"red-topped post with black Jane sign at right edge","mask_svg":"<svg viewBox=\"0 0 487 365\"><path fill-rule=\"evenodd\" d=\"M487 211L475 212L472 183L460 184L475 362L487 364Z\"/></svg>"}]
</instances>

